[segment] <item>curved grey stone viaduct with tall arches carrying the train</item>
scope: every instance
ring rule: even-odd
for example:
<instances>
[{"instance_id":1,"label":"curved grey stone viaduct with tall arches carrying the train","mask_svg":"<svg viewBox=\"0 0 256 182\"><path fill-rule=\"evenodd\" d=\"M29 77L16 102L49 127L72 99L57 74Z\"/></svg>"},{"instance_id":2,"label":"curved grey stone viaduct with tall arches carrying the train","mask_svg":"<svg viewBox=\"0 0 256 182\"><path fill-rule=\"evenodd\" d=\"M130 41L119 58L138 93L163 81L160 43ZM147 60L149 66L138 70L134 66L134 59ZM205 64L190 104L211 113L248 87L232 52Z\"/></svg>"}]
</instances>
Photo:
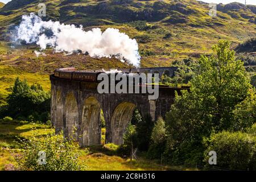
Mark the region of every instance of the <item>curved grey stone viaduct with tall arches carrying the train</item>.
<instances>
[{"instance_id":1,"label":"curved grey stone viaduct with tall arches carrying the train","mask_svg":"<svg viewBox=\"0 0 256 182\"><path fill-rule=\"evenodd\" d=\"M143 68L129 72L167 72L174 76L176 68ZM127 71L127 70L126 70ZM117 94L97 92L98 82L94 72L59 69L51 79L51 120L56 133L63 130L64 137L73 136L80 146L101 144L101 110L106 122L106 143L123 143L123 134L135 108L142 117L151 116L155 121L164 117L174 101L175 90L159 86L159 98L148 100L148 94ZM96 75L97 76L97 75ZM90 80L88 80L88 78ZM96 78L96 80L95 80Z\"/></svg>"}]
</instances>

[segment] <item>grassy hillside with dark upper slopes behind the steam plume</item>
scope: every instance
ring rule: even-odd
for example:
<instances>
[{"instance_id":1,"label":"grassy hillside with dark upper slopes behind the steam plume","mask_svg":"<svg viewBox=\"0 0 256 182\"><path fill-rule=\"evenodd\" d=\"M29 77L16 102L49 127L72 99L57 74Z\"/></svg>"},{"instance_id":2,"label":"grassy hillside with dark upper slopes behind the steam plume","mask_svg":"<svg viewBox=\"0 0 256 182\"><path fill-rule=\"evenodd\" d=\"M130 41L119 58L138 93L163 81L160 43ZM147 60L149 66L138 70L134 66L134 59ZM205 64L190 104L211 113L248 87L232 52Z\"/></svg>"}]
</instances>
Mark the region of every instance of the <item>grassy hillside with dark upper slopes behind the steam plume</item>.
<instances>
[{"instance_id":1,"label":"grassy hillside with dark upper slopes behind the steam plume","mask_svg":"<svg viewBox=\"0 0 256 182\"><path fill-rule=\"evenodd\" d=\"M197 59L201 53L211 54L210 47L220 39L230 40L233 47L256 36L256 6L240 3L218 5L217 16L211 17L209 5L196 0L138 1L138 0L65 0L46 3L44 20L82 24L85 30L100 27L118 28L139 44L142 67L168 66L174 60ZM11 31L23 14L38 11L36 0L13 0L0 9L0 40L2 50L10 48ZM35 47L16 47L2 52L2 63L28 72L52 72L56 67L75 65L96 69L127 67L118 60L92 59L85 55L53 54L36 57ZM82 61L81 61L82 60ZM33 63L33 64L31 64Z\"/></svg>"}]
</instances>

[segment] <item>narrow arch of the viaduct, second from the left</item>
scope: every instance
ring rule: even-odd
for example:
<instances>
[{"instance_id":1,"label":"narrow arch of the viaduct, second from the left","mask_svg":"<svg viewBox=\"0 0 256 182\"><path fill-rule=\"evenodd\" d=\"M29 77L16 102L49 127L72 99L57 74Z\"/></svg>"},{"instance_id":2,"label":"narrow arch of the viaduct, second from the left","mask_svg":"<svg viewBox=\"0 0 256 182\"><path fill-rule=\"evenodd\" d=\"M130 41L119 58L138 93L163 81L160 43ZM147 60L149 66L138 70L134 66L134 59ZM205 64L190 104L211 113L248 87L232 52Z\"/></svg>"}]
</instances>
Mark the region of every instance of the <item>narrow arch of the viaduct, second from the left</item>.
<instances>
[{"instance_id":1,"label":"narrow arch of the viaduct, second from the left","mask_svg":"<svg viewBox=\"0 0 256 182\"><path fill-rule=\"evenodd\" d=\"M65 97L64 104L64 137L73 137L76 139L77 134L74 131L79 126L79 110L76 97L69 92Z\"/></svg>"}]
</instances>

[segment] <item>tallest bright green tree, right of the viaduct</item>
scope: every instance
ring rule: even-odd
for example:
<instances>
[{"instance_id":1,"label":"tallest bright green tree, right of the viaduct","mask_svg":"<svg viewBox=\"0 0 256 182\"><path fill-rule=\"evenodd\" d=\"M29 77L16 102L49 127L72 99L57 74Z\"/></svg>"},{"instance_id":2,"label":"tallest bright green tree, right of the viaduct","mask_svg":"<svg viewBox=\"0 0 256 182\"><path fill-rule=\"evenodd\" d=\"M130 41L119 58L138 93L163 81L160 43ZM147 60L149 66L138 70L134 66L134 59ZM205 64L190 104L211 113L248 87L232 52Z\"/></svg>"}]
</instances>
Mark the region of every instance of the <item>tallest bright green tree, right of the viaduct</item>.
<instances>
[{"instance_id":1,"label":"tallest bright green tree, right of the viaduct","mask_svg":"<svg viewBox=\"0 0 256 182\"><path fill-rule=\"evenodd\" d=\"M203 100L203 106L212 114L214 129L228 129L232 110L249 94L249 76L241 60L229 49L230 42L221 40L213 46L217 57L201 56L191 92Z\"/></svg>"}]
</instances>

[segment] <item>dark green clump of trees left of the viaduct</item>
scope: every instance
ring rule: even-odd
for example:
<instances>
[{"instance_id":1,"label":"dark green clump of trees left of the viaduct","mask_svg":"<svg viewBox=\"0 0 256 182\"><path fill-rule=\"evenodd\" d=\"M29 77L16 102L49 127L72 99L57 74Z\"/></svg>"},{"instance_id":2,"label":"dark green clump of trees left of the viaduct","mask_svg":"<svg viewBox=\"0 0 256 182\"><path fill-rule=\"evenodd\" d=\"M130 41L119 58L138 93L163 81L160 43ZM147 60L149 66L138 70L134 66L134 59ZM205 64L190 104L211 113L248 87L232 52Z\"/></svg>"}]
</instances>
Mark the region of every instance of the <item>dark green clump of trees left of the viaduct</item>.
<instances>
[{"instance_id":1,"label":"dark green clump of trees left of the viaduct","mask_svg":"<svg viewBox=\"0 0 256 182\"><path fill-rule=\"evenodd\" d=\"M31 121L46 122L49 117L50 94L44 92L39 84L27 84L16 78L12 92L7 97L7 107L5 114L11 117L25 117Z\"/></svg>"}]
</instances>

